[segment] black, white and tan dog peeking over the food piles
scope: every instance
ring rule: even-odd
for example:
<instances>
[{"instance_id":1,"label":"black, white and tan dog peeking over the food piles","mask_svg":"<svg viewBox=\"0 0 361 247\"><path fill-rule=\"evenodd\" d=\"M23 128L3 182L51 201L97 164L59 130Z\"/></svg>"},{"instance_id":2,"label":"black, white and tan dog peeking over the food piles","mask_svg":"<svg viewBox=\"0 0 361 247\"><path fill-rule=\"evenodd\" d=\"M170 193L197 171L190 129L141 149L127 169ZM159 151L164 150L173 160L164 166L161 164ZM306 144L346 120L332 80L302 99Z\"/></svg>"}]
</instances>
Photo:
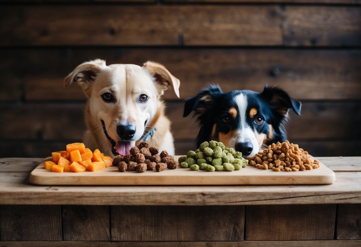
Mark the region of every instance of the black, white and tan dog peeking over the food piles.
<instances>
[{"instance_id":1,"label":"black, white and tan dog peeking over the food piles","mask_svg":"<svg viewBox=\"0 0 361 247\"><path fill-rule=\"evenodd\" d=\"M197 96L187 99L183 117L194 111L199 123L197 147L202 142L217 140L226 147L255 155L263 143L284 142L284 123L288 109L300 115L301 102L292 99L278 87L264 87L262 93L235 90L223 93L211 85Z\"/></svg>"}]
</instances>

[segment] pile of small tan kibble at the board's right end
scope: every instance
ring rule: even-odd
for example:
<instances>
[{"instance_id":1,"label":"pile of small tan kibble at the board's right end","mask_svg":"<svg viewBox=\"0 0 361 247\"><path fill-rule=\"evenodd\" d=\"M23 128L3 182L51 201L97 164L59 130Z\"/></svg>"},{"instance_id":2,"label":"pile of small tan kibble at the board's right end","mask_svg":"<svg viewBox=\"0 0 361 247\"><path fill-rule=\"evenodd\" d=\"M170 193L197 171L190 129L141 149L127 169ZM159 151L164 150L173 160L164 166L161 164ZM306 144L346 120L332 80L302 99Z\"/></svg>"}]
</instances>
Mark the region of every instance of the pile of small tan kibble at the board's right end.
<instances>
[{"instance_id":1,"label":"pile of small tan kibble at the board's right end","mask_svg":"<svg viewBox=\"0 0 361 247\"><path fill-rule=\"evenodd\" d=\"M272 169L274 171L304 171L319 167L318 160L312 160L307 151L287 140L283 143L272 143L255 156L247 157L247 160L251 166L258 169Z\"/></svg>"}]
</instances>

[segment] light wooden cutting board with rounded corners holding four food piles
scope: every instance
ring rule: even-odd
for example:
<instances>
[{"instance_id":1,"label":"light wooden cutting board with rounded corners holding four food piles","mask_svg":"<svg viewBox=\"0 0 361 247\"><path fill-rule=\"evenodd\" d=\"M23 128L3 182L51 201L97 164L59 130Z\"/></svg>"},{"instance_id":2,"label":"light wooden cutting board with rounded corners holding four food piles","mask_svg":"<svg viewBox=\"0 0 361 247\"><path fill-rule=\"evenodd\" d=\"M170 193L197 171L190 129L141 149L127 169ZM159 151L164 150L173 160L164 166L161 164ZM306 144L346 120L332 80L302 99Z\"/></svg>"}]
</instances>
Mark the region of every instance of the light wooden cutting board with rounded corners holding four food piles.
<instances>
[{"instance_id":1,"label":"light wooden cutting board with rounded corners holding four food piles","mask_svg":"<svg viewBox=\"0 0 361 247\"><path fill-rule=\"evenodd\" d=\"M175 156L178 160L179 156ZM320 163L318 169L306 171L260 170L247 166L239 171L191 171L178 167L161 172L119 172L118 167L91 172L57 173L44 169L46 158L30 174L30 183L39 185L256 185L256 184L332 184L335 173Z\"/></svg>"}]
</instances>

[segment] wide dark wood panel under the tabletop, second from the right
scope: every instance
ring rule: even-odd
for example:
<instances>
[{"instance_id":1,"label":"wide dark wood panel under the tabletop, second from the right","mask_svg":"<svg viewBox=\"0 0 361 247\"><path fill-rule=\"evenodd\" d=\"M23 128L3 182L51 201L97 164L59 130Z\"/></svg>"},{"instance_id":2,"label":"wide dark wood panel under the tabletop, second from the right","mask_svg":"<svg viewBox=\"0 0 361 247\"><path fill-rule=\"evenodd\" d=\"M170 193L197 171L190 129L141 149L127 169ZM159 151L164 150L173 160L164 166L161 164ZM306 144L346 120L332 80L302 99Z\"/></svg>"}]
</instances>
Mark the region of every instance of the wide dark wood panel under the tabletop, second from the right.
<instances>
[{"instance_id":1,"label":"wide dark wood panel under the tabletop, second from the right","mask_svg":"<svg viewBox=\"0 0 361 247\"><path fill-rule=\"evenodd\" d=\"M247 206L245 240L333 239L336 205Z\"/></svg>"}]
</instances>

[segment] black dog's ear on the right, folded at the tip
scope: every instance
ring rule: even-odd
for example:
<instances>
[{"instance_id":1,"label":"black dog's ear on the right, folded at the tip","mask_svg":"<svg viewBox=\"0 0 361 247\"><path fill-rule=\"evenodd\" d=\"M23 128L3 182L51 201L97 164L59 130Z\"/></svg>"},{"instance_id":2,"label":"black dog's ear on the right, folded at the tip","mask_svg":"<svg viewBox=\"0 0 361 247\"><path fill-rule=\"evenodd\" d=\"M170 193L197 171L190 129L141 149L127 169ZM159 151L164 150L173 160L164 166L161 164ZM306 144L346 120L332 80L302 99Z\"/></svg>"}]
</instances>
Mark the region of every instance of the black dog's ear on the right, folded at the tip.
<instances>
[{"instance_id":1,"label":"black dog's ear on the right, folded at the tip","mask_svg":"<svg viewBox=\"0 0 361 247\"><path fill-rule=\"evenodd\" d=\"M268 87L265 85L261 97L270 102L271 108L283 117L287 116L288 109L290 108L297 115L301 114L301 102L292 99L290 95L279 87Z\"/></svg>"}]
</instances>

